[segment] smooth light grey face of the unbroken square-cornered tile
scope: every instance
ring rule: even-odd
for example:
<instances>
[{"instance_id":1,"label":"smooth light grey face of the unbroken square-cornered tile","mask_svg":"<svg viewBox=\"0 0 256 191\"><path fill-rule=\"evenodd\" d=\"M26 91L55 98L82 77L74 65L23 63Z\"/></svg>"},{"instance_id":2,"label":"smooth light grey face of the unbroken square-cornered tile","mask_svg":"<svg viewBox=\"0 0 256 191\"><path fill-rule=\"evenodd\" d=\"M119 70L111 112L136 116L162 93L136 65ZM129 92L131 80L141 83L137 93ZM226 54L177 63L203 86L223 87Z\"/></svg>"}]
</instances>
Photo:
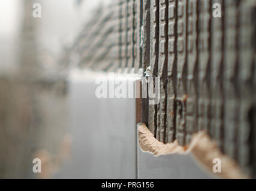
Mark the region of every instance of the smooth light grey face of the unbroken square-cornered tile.
<instances>
[{"instance_id":1,"label":"smooth light grey face of the unbroken square-cornered tile","mask_svg":"<svg viewBox=\"0 0 256 191\"><path fill-rule=\"evenodd\" d=\"M69 84L71 161L54 178L135 178L135 99L97 98L98 76L83 76Z\"/></svg>"}]
</instances>

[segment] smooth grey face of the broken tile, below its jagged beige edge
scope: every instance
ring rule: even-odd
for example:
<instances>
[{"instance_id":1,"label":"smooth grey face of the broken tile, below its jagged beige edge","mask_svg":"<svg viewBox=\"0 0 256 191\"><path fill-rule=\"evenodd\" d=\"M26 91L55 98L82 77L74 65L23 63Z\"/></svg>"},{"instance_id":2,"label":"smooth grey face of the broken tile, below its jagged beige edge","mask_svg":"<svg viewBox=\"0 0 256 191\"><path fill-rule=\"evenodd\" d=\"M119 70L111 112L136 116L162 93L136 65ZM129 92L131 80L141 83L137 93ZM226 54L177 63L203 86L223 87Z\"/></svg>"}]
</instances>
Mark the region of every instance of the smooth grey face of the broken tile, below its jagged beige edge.
<instances>
[{"instance_id":1,"label":"smooth grey face of the broken tile, below its jagged beige edge","mask_svg":"<svg viewBox=\"0 0 256 191\"><path fill-rule=\"evenodd\" d=\"M138 178L216 178L195 160L191 154L153 156L138 144Z\"/></svg>"}]
</instances>

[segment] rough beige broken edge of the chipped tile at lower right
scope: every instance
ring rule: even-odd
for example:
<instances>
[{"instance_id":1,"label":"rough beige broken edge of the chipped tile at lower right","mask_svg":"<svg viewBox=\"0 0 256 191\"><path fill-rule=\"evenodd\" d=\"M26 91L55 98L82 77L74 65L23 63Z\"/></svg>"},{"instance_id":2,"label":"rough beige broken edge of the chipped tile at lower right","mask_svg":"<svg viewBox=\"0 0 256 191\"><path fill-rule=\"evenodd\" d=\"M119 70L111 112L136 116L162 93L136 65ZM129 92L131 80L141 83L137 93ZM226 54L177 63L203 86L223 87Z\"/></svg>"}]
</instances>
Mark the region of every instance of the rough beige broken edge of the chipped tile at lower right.
<instances>
[{"instance_id":1,"label":"rough beige broken edge of the chipped tile at lower right","mask_svg":"<svg viewBox=\"0 0 256 191\"><path fill-rule=\"evenodd\" d=\"M210 140L210 137L204 131L192 135L191 143L188 146L180 146L177 140L166 144L159 142L143 123L138 124L137 127L140 148L144 152L153 153L155 156L173 153L187 154L191 152L198 163L210 172L212 172L214 165L213 159L219 158L221 159L221 173L218 173L220 177L249 178L243 174L233 159L221 153L216 142Z\"/></svg>"}]
</instances>

